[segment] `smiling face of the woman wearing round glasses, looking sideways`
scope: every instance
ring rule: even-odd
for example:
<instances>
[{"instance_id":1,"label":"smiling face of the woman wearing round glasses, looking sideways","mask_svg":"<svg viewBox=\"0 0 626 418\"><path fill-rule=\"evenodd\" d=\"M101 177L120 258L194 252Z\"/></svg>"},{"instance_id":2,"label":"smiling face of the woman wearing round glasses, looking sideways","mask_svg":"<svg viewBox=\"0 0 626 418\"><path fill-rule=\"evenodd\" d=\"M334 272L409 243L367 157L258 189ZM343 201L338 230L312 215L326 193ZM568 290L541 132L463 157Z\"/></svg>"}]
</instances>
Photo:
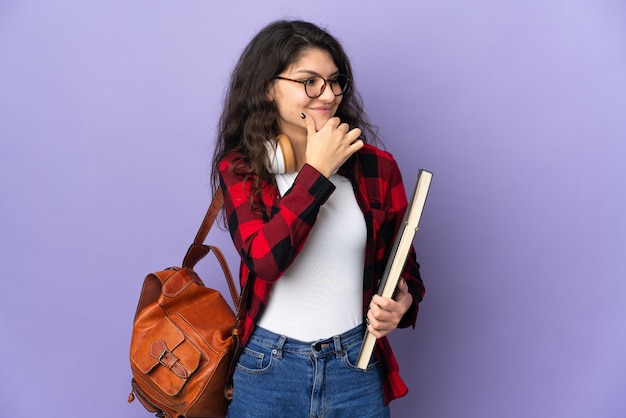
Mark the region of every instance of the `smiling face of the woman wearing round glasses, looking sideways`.
<instances>
[{"instance_id":1,"label":"smiling face of the woman wearing round glasses, looking sideways","mask_svg":"<svg viewBox=\"0 0 626 418\"><path fill-rule=\"evenodd\" d=\"M305 81L314 76L332 80L339 75L331 55L323 49L305 51L301 58L279 76L292 80ZM309 90L313 90L309 87ZM318 90L319 92L319 90ZM319 130L337 112L342 96L335 96L330 84L315 99L307 96L302 83L276 79L269 89L269 99L273 100L280 114L281 132L292 141L306 141L306 127L300 114L304 112L315 122ZM317 92L309 91L309 94Z\"/></svg>"}]
</instances>

